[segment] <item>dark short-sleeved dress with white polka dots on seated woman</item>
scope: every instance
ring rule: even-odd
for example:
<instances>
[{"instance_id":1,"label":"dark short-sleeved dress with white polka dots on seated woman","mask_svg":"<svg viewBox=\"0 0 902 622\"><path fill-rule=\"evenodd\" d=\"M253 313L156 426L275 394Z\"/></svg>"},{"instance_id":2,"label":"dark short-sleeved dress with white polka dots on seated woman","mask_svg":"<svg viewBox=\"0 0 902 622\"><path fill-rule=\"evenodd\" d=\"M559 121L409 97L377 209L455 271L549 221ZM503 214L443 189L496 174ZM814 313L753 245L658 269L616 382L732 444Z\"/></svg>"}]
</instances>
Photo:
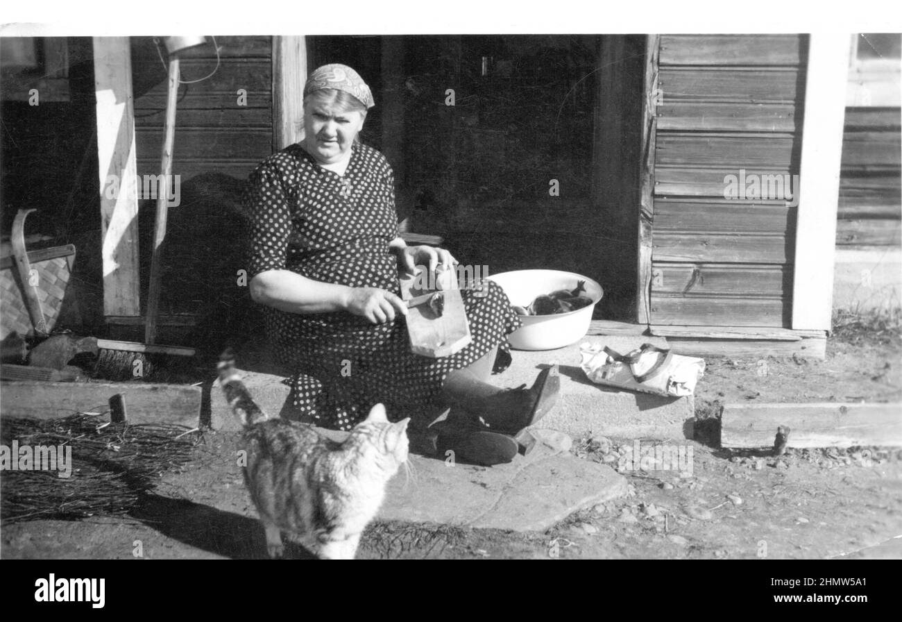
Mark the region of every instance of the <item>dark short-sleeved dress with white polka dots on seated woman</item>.
<instances>
[{"instance_id":1,"label":"dark short-sleeved dress with white polka dots on seated woman","mask_svg":"<svg viewBox=\"0 0 902 622\"><path fill-rule=\"evenodd\" d=\"M344 176L327 171L299 144L273 154L251 174L245 202L252 218L249 273L287 269L323 283L380 287L400 294L391 166L355 143ZM495 346L495 370L510 361L507 335L520 326L502 289L486 281L465 289L473 341L450 357L410 352L401 316L372 324L345 311L300 315L264 307L266 331L281 365L295 370L290 400L317 425L350 430L373 404L392 419L434 404L451 371Z\"/></svg>"}]
</instances>

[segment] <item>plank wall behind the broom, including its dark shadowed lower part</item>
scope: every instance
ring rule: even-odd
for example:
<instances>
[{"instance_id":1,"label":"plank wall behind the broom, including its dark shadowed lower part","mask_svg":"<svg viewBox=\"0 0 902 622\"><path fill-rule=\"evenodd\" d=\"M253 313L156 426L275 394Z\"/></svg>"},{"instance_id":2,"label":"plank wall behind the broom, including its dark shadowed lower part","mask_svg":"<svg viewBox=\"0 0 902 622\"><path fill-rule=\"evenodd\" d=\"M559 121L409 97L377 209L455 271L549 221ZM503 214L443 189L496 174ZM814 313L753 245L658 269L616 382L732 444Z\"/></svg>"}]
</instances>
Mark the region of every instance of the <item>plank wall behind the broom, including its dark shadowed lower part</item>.
<instances>
[{"instance_id":1,"label":"plank wall behind the broom, including its dark shadowed lower part","mask_svg":"<svg viewBox=\"0 0 902 622\"><path fill-rule=\"evenodd\" d=\"M132 56L138 173L156 176L166 70L149 37L132 38ZM179 70L186 83L179 85L172 173L180 176L180 192L178 207L169 210L163 246L161 310L204 326L211 318L232 321L245 308L246 288L235 287L238 271L247 267L240 200L250 172L272 153L272 37L216 36L214 44L207 36L205 44L179 53ZM143 287L154 203L143 193L138 224ZM206 338L199 334L185 339L201 345L197 339Z\"/></svg>"}]
</instances>

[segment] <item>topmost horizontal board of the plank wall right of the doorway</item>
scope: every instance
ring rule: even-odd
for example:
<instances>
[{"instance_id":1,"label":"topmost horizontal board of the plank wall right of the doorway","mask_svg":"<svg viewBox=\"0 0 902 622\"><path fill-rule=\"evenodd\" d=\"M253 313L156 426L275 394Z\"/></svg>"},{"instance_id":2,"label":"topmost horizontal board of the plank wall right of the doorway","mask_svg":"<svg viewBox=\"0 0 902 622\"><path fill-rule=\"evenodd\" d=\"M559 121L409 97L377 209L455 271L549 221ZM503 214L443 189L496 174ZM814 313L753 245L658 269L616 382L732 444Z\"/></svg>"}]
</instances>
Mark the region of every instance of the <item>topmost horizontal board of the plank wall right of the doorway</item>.
<instances>
[{"instance_id":1,"label":"topmost horizontal board of the plank wall right of the doorway","mask_svg":"<svg viewBox=\"0 0 902 622\"><path fill-rule=\"evenodd\" d=\"M662 34L661 65L798 65L802 34Z\"/></svg>"}]
</instances>

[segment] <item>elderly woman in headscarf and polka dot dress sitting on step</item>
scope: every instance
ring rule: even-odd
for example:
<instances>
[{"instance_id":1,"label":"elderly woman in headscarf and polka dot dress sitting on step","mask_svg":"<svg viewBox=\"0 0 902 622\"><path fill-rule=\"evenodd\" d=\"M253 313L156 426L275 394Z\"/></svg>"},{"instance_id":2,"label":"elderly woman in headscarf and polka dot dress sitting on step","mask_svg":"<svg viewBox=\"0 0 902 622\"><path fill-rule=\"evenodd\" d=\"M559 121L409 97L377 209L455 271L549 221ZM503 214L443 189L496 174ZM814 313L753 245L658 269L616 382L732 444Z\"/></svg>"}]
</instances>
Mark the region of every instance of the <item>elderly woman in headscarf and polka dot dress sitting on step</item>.
<instances>
[{"instance_id":1,"label":"elderly woman in headscarf and polka dot dress sitting on step","mask_svg":"<svg viewBox=\"0 0 902 622\"><path fill-rule=\"evenodd\" d=\"M555 403L557 367L529 389L484 382L499 350L494 367L507 366L507 335L520 326L492 282L478 294L462 291L468 346L441 358L410 352L399 270L457 262L445 249L398 237L391 166L357 140L371 107L370 88L353 69L320 67L304 88L304 138L251 175L250 291L264 305L275 357L294 372L289 399L311 422L339 430L381 402L390 415L413 417L411 434L419 430L429 451L510 461L528 450L525 428ZM451 415L429 429L443 407Z\"/></svg>"}]
</instances>

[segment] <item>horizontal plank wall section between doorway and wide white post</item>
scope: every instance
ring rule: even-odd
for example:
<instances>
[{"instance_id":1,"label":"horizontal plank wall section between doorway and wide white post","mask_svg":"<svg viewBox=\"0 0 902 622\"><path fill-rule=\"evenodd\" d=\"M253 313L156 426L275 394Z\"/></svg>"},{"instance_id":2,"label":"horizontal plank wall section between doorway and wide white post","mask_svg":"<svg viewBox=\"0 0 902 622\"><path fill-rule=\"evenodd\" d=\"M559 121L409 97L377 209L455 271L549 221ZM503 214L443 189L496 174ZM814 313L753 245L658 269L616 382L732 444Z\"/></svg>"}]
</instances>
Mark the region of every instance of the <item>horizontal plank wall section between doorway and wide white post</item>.
<instances>
[{"instance_id":1,"label":"horizontal plank wall section between doorway and wide white post","mask_svg":"<svg viewBox=\"0 0 902 622\"><path fill-rule=\"evenodd\" d=\"M652 324L788 327L793 201L724 190L741 170L798 172L806 49L804 35L661 35Z\"/></svg>"}]
</instances>

